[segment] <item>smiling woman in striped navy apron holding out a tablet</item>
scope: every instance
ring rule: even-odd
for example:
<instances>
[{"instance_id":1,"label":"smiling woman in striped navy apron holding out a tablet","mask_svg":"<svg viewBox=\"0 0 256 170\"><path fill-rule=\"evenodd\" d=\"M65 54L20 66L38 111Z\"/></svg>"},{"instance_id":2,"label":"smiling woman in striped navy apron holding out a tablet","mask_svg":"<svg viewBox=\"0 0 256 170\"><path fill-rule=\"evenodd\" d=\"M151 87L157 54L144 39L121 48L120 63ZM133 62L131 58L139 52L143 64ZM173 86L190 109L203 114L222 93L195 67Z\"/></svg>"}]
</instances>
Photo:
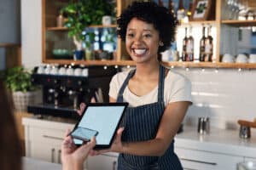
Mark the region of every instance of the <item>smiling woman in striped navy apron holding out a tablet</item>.
<instances>
[{"instance_id":1,"label":"smiling woman in striped navy apron holding out a tablet","mask_svg":"<svg viewBox=\"0 0 256 170\"><path fill-rule=\"evenodd\" d=\"M182 169L173 139L191 104L191 84L158 60L174 41L177 20L156 3L134 2L117 24L136 69L113 77L109 100L129 107L110 150L93 153L118 152L119 170Z\"/></svg>"}]
</instances>

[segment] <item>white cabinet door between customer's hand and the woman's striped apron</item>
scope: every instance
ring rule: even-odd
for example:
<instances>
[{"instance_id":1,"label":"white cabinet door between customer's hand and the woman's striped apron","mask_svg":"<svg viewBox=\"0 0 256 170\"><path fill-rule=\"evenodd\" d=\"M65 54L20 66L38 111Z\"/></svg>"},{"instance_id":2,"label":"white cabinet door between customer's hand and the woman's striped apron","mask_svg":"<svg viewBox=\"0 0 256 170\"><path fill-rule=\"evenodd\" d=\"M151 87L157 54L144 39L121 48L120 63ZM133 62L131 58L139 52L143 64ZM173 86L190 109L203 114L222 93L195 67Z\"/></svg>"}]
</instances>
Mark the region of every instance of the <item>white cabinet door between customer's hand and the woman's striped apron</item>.
<instances>
[{"instance_id":1,"label":"white cabinet door between customer's hand and the woman's striped apron","mask_svg":"<svg viewBox=\"0 0 256 170\"><path fill-rule=\"evenodd\" d=\"M88 170L116 170L117 157L102 154L100 156L89 156L87 159Z\"/></svg>"}]
</instances>

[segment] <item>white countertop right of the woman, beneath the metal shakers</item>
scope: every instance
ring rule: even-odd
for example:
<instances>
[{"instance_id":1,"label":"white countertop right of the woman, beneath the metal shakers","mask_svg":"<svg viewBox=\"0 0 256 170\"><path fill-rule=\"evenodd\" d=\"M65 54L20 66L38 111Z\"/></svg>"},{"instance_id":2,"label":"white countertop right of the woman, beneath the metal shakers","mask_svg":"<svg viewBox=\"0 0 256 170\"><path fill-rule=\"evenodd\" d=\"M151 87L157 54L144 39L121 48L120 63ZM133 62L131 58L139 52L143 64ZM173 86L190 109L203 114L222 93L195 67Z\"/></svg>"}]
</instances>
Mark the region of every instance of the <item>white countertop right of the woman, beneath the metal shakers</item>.
<instances>
[{"instance_id":1,"label":"white countertop right of the woman, beneath the metal shakers","mask_svg":"<svg viewBox=\"0 0 256 170\"><path fill-rule=\"evenodd\" d=\"M183 127L183 133L175 137L175 146L255 158L256 133L251 134L251 139L240 139L239 130L214 128L209 134L201 135L197 127Z\"/></svg>"}]
</instances>

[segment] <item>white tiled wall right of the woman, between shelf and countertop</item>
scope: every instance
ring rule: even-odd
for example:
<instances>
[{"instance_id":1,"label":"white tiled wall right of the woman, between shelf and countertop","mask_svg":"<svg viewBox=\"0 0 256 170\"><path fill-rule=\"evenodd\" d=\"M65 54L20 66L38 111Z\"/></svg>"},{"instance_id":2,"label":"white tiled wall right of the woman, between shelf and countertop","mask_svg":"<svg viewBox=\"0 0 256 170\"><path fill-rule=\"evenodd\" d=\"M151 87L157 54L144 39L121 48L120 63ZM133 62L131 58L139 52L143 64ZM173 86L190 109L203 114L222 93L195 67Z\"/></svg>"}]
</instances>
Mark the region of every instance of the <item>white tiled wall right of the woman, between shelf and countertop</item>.
<instances>
[{"instance_id":1,"label":"white tiled wall right of the woman, between shelf and countertop","mask_svg":"<svg viewBox=\"0 0 256 170\"><path fill-rule=\"evenodd\" d=\"M212 127L237 128L237 120L256 118L256 70L174 69L192 82L193 105L184 122L197 125L209 116Z\"/></svg>"}]
</instances>

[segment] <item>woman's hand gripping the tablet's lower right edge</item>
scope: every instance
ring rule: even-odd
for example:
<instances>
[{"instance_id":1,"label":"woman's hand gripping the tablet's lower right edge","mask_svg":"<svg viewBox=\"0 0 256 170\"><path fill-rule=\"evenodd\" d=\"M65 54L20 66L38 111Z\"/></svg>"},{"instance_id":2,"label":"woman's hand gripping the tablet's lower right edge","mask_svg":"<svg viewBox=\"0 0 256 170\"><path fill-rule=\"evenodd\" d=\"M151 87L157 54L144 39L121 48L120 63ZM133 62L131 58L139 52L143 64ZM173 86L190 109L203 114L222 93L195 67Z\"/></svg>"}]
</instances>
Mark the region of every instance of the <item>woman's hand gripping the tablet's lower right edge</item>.
<instances>
[{"instance_id":1,"label":"woman's hand gripping the tablet's lower right edge","mask_svg":"<svg viewBox=\"0 0 256 170\"><path fill-rule=\"evenodd\" d=\"M90 150L90 156L98 156L100 154L106 153L106 152L118 152L122 153L124 150L124 145L121 141L121 136L124 131L124 127L120 127L115 135L115 138L113 140L113 144L111 145L110 149L107 150Z\"/></svg>"}]
</instances>

